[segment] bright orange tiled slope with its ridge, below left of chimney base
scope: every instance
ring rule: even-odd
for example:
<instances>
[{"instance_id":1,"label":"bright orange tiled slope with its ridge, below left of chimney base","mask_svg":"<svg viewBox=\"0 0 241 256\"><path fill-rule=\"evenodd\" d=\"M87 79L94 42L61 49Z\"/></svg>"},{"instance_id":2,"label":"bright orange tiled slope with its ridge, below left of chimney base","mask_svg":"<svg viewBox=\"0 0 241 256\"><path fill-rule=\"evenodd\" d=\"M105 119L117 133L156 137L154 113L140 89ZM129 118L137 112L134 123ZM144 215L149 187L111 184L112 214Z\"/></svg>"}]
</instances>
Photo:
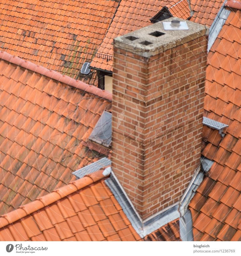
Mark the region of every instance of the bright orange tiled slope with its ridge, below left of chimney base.
<instances>
[{"instance_id":1,"label":"bright orange tiled slope with its ridge, below left of chimney base","mask_svg":"<svg viewBox=\"0 0 241 256\"><path fill-rule=\"evenodd\" d=\"M141 239L103 169L0 217L1 241L179 241L178 220Z\"/></svg>"}]
</instances>

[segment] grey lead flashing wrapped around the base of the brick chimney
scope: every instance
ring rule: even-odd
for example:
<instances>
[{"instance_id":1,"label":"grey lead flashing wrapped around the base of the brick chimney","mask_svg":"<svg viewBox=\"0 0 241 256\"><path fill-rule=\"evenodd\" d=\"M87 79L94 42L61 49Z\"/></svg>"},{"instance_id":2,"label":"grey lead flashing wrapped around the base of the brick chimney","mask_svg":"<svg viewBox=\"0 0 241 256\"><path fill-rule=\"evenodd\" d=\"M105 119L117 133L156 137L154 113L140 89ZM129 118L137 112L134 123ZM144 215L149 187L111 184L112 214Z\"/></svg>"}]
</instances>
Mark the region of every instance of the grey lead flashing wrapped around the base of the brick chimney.
<instances>
[{"instance_id":1,"label":"grey lead flashing wrapped around the base of the brick chimney","mask_svg":"<svg viewBox=\"0 0 241 256\"><path fill-rule=\"evenodd\" d=\"M188 210L188 205L204 178L204 171L207 172L211 168L212 164L213 161L208 160L207 158L202 158L202 167L196 170L188 188L186 189L186 192L183 194L183 198L181 199L181 201L177 204L174 204L169 209L165 209L163 212L160 212L154 217L144 221L135 210L135 207L133 206L117 177L110 170L111 168L108 169L109 172L111 171L111 175L108 179L105 180L105 183L114 194L114 197L121 205L133 228L136 230L141 238L149 235L150 233L166 225L167 223L176 220L177 218L180 218L181 240L193 241L192 216L190 211Z\"/></svg>"}]
</instances>

